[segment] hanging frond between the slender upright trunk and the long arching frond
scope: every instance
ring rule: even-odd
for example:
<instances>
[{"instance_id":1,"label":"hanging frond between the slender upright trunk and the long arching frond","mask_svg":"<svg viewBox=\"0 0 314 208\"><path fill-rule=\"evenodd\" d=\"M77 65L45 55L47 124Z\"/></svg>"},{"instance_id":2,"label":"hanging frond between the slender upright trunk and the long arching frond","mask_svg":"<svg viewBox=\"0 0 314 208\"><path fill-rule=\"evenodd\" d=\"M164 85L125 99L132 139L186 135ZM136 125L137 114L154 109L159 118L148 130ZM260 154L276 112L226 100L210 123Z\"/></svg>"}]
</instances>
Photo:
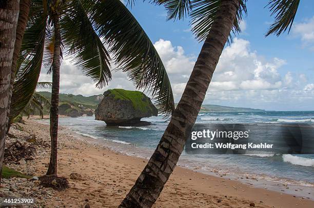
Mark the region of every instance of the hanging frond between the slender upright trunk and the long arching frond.
<instances>
[{"instance_id":1,"label":"hanging frond between the slender upright trunk and the long arching frond","mask_svg":"<svg viewBox=\"0 0 314 208\"><path fill-rule=\"evenodd\" d=\"M82 2L69 2L61 19L62 39L75 66L102 88L111 79L110 57L89 20L89 1Z\"/></svg>"}]
</instances>

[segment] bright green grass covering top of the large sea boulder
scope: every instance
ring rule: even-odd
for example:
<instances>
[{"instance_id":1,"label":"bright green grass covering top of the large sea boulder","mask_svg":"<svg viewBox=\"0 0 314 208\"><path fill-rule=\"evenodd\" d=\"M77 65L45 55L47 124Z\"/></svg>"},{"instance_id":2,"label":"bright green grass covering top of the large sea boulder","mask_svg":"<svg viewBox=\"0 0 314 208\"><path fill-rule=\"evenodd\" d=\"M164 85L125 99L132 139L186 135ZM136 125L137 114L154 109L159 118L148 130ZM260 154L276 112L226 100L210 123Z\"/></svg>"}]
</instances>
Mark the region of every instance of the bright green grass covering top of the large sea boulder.
<instances>
[{"instance_id":1,"label":"bright green grass covering top of the large sea boulder","mask_svg":"<svg viewBox=\"0 0 314 208\"><path fill-rule=\"evenodd\" d=\"M114 96L114 99L130 100L135 110L140 110L143 112L151 110L148 99L146 98L144 93L140 91L131 91L123 89L112 89L109 91Z\"/></svg>"}]
</instances>

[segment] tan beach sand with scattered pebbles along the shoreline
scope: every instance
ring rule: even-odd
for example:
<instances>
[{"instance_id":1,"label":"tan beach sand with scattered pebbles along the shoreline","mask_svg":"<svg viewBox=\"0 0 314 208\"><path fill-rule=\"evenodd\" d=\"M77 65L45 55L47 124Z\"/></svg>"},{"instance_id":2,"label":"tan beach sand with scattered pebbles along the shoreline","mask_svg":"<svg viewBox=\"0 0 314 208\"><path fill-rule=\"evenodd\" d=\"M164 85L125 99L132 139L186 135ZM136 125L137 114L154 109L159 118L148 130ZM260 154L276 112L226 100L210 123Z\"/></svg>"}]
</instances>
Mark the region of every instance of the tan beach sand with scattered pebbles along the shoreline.
<instances>
[{"instance_id":1,"label":"tan beach sand with scattered pebbles along the shoreline","mask_svg":"<svg viewBox=\"0 0 314 208\"><path fill-rule=\"evenodd\" d=\"M21 124L25 131L50 141L49 126L34 118ZM47 207L117 207L147 160L113 152L95 139L60 127L58 175L68 178L70 188L46 201ZM49 149L48 149L49 152ZM49 154L35 159L37 176L47 171ZM84 180L70 179L79 173ZM228 178L176 167L153 207L314 207L314 201L253 188ZM252 204L251 204L252 205Z\"/></svg>"}]
</instances>

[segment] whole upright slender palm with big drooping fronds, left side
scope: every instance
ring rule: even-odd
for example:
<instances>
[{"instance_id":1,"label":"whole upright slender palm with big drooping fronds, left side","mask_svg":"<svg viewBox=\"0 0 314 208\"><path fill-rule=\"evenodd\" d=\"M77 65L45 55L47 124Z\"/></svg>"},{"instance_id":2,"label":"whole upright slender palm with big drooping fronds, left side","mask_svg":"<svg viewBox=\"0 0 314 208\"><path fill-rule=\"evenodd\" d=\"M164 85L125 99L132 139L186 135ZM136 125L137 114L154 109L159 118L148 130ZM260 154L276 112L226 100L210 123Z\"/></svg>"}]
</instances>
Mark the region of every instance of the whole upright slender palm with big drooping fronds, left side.
<instances>
[{"instance_id":1,"label":"whole upright slender palm with big drooping fronds, left side","mask_svg":"<svg viewBox=\"0 0 314 208\"><path fill-rule=\"evenodd\" d=\"M114 62L117 69L127 72L136 88L151 92L165 116L171 115L174 103L158 53L121 1L39 1L34 10L19 53L21 60L17 61L22 70L16 72L18 79L13 87L10 119L28 103L41 66L46 66L52 72L51 155L46 174L49 182L57 178L57 107L63 54L71 56L74 64L97 87L104 87L111 79L110 63Z\"/></svg>"}]
</instances>

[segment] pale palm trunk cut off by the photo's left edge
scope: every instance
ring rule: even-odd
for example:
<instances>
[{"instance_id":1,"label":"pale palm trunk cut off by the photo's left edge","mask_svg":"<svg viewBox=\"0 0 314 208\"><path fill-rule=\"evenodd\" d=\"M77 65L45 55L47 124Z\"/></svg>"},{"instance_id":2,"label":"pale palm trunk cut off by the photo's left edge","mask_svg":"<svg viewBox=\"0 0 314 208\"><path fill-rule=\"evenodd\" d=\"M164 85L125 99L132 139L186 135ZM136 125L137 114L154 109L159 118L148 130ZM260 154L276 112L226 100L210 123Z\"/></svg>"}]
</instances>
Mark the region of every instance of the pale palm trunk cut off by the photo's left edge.
<instances>
[{"instance_id":1,"label":"pale palm trunk cut off by the photo's left edge","mask_svg":"<svg viewBox=\"0 0 314 208\"><path fill-rule=\"evenodd\" d=\"M0 183L5 149L11 65L14 51L18 0L0 2Z\"/></svg>"}]
</instances>

